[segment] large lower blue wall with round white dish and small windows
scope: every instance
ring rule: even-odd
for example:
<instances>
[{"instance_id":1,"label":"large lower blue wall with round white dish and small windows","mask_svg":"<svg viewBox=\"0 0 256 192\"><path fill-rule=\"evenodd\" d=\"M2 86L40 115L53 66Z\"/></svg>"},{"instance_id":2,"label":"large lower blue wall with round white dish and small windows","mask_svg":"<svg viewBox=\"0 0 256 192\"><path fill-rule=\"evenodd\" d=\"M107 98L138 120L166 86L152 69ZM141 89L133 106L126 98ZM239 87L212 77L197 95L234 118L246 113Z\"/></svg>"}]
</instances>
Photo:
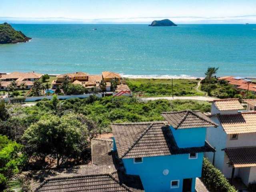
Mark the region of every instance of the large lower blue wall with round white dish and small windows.
<instances>
[{"instance_id":1,"label":"large lower blue wall with round white dish and small windows","mask_svg":"<svg viewBox=\"0 0 256 192\"><path fill-rule=\"evenodd\" d=\"M195 191L195 179L202 173L203 153L197 159L188 159L188 154L144 157L143 162L134 164L134 159L122 159L127 174L139 175L146 192L172 191L182 192L183 179L192 178L192 192ZM164 175L163 170L169 174ZM170 189L172 180L180 180L179 188Z\"/></svg>"}]
</instances>

